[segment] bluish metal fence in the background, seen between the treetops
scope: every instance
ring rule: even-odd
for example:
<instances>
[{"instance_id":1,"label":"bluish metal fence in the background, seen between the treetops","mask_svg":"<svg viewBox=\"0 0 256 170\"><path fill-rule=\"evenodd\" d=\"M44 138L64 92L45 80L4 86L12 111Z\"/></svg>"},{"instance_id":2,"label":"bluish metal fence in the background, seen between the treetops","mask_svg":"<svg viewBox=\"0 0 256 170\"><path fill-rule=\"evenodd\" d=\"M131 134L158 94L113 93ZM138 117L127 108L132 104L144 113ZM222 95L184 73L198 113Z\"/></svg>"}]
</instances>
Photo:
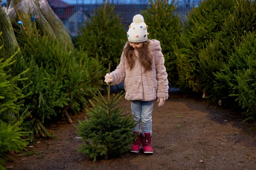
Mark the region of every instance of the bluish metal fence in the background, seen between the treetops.
<instances>
[{"instance_id":1,"label":"bluish metal fence in the background, seen between the treetops","mask_svg":"<svg viewBox=\"0 0 256 170\"><path fill-rule=\"evenodd\" d=\"M171 1L171 0L169 0ZM3 0L1 5L5 4ZM102 4L102 0L48 0L49 5L55 14L63 21L73 36L77 35L84 20L93 15L94 10ZM135 14L140 14L148 7L148 0L110 0L115 5L115 11L122 17L124 26L132 22ZM176 14L181 20L186 19L186 14L197 6L199 0L180 0L177 2Z\"/></svg>"}]
</instances>

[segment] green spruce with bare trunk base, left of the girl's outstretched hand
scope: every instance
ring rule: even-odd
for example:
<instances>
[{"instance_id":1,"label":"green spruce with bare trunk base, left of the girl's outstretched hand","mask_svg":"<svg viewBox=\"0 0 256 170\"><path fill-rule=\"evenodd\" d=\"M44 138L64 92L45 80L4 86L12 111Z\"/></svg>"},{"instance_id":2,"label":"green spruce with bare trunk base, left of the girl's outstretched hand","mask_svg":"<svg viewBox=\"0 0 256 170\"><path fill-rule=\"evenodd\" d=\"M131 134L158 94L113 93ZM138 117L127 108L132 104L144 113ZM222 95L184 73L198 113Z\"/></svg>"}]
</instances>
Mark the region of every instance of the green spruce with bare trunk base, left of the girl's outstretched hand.
<instances>
[{"instance_id":1,"label":"green spruce with bare trunk base, left of the girl's outstretched hand","mask_svg":"<svg viewBox=\"0 0 256 170\"><path fill-rule=\"evenodd\" d=\"M55 56L57 57L55 58L56 82L60 83L60 91L65 94L67 100L67 105L61 111L67 121L72 123L69 113L77 113L83 108L89 98L88 92L90 90L96 93L96 89L102 84L100 79L103 77L105 69L103 69L98 59L84 55L84 51L72 53L58 51ZM81 56L84 58L82 59ZM89 67L91 70L88 71L86 68L89 65L95 67ZM93 74L96 74L97 77Z\"/></svg>"}]
</instances>

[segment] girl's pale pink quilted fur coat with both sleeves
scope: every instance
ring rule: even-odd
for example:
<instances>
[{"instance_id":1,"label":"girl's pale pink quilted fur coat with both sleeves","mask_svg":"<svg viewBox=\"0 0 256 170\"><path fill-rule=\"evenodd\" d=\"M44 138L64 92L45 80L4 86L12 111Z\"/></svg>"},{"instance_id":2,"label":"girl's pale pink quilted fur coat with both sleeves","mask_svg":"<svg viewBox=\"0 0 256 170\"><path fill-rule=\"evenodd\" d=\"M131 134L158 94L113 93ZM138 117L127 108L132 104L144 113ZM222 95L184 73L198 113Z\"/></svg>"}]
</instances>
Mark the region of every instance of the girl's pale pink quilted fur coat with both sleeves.
<instances>
[{"instance_id":1,"label":"girl's pale pink quilted fur coat with both sleeves","mask_svg":"<svg viewBox=\"0 0 256 170\"><path fill-rule=\"evenodd\" d=\"M121 56L121 61L112 72L113 82L117 85L125 82L125 99L152 101L157 98L168 99L168 79L164 66L164 57L161 52L158 40L149 40L149 48L153 52L152 70L145 71L138 61L138 52L135 50L136 59L134 68L130 69L125 57Z\"/></svg>"}]
</instances>

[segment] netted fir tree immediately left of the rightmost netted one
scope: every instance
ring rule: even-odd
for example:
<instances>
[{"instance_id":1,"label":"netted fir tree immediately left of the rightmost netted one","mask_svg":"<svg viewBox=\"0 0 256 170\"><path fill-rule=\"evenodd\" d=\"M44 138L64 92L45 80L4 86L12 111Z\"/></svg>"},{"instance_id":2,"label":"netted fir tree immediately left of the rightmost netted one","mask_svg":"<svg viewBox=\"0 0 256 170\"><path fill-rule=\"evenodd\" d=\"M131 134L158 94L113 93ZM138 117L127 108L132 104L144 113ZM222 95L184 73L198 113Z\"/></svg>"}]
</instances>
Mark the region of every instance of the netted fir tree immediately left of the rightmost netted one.
<instances>
[{"instance_id":1,"label":"netted fir tree immediately left of the rightmost netted one","mask_svg":"<svg viewBox=\"0 0 256 170\"><path fill-rule=\"evenodd\" d=\"M44 15L41 13L39 9L39 4L34 0L26 0L29 3L29 9L32 12L32 15L38 15L35 19L36 27L40 30L42 35L47 35L50 40L55 39L55 33L52 27L49 25Z\"/></svg>"}]
</instances>

